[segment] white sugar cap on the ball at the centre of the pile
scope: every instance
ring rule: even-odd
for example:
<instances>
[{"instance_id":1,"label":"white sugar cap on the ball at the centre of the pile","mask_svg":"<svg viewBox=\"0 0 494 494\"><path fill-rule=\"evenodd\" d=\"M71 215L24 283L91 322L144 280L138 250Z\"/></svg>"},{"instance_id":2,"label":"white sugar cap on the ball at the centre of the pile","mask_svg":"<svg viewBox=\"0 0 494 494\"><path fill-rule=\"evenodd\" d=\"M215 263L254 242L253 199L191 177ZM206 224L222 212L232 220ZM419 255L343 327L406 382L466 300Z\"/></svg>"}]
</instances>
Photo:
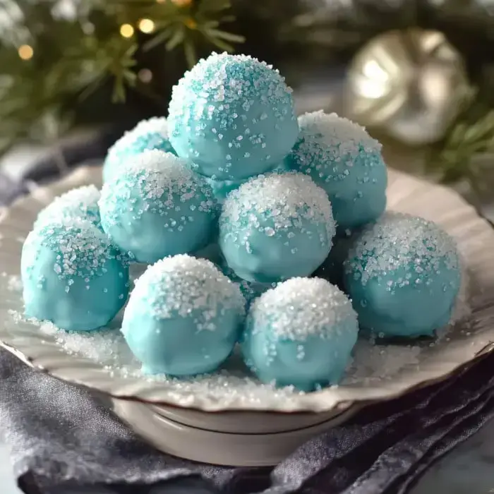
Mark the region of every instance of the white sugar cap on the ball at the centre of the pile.
<instances>
[{"instance_id":1,"label":"white sugar cap on the ball at the centre of the pile","mask_svg":"<svg viewBox=\"0 0 494 494\"><path fill-rule=\"evenodd\" d=\"M220 225L226 229L239 221L255 226L259 215L267 215L277 229L300 229L299 219L324 224L327 236L335 234L335 221L325 191L306 174L288 172L259 175L232 191L223 203Z\"/></svg>"}]
</instances>

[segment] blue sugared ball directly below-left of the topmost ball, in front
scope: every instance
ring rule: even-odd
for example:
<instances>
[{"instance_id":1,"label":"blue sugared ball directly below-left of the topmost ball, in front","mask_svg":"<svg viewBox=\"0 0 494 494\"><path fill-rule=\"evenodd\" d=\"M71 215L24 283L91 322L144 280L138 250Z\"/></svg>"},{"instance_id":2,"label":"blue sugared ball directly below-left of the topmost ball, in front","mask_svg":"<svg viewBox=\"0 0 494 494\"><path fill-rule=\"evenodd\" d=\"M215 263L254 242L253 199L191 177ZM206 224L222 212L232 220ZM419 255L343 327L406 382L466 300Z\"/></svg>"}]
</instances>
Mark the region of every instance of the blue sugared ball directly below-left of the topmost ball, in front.
<instances>
[{"instance_id":1,"label":"blue sugared ball directly below-left of the topmost ball, in front","mask_svg":"<svg viewBox=\"0 0 494 494\"><path fill-rule=\"evenodd\" d=\"M202 176L170 152L145 151L104 184L102 227L138 263L198 251L215 231L217 205Z\"/></svg>"}]
</instances>

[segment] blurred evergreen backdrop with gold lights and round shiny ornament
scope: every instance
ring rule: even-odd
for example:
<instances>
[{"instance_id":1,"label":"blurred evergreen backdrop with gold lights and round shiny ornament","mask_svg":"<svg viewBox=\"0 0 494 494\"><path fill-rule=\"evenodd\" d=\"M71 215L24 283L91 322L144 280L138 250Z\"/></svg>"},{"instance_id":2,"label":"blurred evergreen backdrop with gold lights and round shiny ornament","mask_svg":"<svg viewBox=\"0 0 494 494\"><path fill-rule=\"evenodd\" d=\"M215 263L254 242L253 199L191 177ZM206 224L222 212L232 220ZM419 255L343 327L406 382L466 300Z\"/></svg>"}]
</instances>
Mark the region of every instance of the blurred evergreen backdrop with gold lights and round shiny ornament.
<instances>
[{"instance_id":1,"label":"blurred evergreen backdrop with gold lights and round shiny ornament","mask_svg":"<svg viewBox=\"0 0 494 494\"><path fill-rule=\"evenodd\" d=\"M0 0L0 155L166 115L212 50L273 64L296 95L317 79L302 109L337 85L325 109L394 163L494 196L493 0Z\"/></svg>"}]
</instances>

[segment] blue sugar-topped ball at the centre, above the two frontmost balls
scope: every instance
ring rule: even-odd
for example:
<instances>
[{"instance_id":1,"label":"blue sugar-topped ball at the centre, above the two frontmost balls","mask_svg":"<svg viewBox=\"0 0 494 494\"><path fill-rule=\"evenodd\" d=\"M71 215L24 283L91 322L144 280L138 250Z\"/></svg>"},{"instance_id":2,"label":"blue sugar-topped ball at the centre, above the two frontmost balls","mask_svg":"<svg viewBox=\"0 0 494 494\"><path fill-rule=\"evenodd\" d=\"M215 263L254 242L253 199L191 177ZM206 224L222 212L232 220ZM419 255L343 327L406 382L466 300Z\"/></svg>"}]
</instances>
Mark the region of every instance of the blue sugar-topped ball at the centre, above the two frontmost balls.
<instances>
[{"instance_id":1,"label":"blue sugar-topped ball at the centre, above the two frontmost balls","mask_svg":"<svg viewBox=\"0 0 494 494\"><path fill-rule=\"evenodd\" d=\"M311 275L332 246L335 221L325 191L304 174L260 175L229 193L219 217L219 247L248 282Z\"/></svg>"}]
</instances>

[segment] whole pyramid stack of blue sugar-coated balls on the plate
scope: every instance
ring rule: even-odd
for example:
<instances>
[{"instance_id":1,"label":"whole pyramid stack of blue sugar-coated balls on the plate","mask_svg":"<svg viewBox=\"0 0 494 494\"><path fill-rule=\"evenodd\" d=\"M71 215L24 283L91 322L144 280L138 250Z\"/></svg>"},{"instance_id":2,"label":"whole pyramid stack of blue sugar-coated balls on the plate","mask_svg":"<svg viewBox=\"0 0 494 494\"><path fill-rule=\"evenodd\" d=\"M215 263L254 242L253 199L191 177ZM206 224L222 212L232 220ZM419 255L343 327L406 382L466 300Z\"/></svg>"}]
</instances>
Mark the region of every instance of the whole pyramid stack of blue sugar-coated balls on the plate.
<instances>
[{"instance_id":1,"label":"whole pyramid stack of blue sugar-coated balls on the plate","mask_svg":"<svg viewBox=\"0 0 494 494\"><path fill-rule=\"evenodd\" d=\"M418 337L450 320L457 248L385 212L380 143L336 114L297 119L284 78L250 56L201 60L103 174L37 218L25 313L90 331L124 308L145 373L210 373L239 344L262 382L310 391L342 379L359 328ZM148 265L135 285L132 263Z\"/></svg>"}]
</instances>

